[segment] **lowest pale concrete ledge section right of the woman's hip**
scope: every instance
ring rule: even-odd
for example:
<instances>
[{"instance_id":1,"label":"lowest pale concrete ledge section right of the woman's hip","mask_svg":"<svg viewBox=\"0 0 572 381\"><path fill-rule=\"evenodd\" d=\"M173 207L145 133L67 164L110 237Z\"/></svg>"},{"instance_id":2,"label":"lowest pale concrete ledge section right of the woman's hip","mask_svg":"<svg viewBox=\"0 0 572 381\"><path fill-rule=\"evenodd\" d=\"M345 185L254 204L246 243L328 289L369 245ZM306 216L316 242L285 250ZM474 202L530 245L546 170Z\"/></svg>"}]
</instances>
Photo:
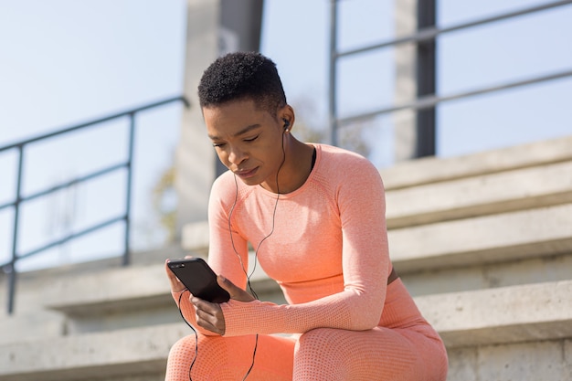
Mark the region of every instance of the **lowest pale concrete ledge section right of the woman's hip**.
<instances>
[{"instance_id":1,"label":"lowest pale concrete ledge section right of the woman's hip","mask_svg":"<svg viewBox=\"0 0 572 381\"><path fill-rule=\"evenodd\" d=\"M572 280L415 298L448 348L572 337Z\"/></svg>"}]
</instances>

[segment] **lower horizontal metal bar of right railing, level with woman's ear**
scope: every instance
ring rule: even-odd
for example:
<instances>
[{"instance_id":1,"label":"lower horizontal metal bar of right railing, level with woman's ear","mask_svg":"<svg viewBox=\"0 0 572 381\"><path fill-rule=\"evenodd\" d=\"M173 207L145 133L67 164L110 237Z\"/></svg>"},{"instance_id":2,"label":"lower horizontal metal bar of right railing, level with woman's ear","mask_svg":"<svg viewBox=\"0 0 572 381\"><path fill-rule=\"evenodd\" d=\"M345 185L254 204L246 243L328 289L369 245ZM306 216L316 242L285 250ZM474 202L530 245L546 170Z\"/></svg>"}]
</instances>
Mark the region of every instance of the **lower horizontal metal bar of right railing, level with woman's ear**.
<instances>
[{"instance_id":1,"label":"lower horizontal metal bar of right railing, level with woman's ear","mask_svg":"<svg viewBox=\"0 0 572 381\"><path fill-rule=\"evenodd\" d=\"M349 124L352 122L366 121L366 120L369 120L371 118L375 118L378 115L386 114L389 112L395 112L395 111L401 111L401 110L416 110L417 111L417 110L430 109L432 107L435 107L438 103L441 103L444 101L452 101L452 100L458 100L461 98L469 98L469 97L484 94L487 92L508 90L508 89L513 89L513 88L522 87L522 86L526 86L526 85L532 85L535 83L546 82L548 80L563 79L566 77L572 77L572 69L553 73L553 74L548 74L545 76L539 76L539 77L535 77L535 78L531 78L531 79L524 79L524 80L519 80L519 81L515 81L515 82L504 83L502 85L496 85L496 86L491 86L491 87L477 89L477 90L458 92L458 93L450 94L450 95L444 95L444 96L429 95L426 97L421 97L417 101L403 103L403 104L400 104L397 106L387 107L387 108L379 109L376 111L359 113L359 114L352 115L352 116L349 116L346 118L340 118L337 120L337 122L340 125L342 125L342 124Z\"/></svg>"}]
</instances>

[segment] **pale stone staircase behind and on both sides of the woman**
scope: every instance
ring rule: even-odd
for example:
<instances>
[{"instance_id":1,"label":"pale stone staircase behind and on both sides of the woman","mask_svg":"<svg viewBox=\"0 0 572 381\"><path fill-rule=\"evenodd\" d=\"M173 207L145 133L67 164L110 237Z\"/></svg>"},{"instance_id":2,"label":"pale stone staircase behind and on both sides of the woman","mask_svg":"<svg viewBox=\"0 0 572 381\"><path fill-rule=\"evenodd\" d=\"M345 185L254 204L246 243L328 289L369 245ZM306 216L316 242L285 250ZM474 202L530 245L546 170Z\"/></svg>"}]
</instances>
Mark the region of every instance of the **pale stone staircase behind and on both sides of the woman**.
<instances>
[{"instance_id":1,"label":"pale stone staircase behind and on both sides of the woman","mask_svg":"<svg viewBox=\"0 0 572 381\"><path fill-rule=\"evenodd\" d=\"M381 171L391 258L450 355L450 381L572 379L572 137ZM206 256L207 225L184 249L22 274L0 315L0 381L158 381L191 331L165 258ZM261 299L283 302L255 274ZM0 276L5 305L5 278ZM4 313L4 312L2 312Z\"/></svg>"}]
</instances>

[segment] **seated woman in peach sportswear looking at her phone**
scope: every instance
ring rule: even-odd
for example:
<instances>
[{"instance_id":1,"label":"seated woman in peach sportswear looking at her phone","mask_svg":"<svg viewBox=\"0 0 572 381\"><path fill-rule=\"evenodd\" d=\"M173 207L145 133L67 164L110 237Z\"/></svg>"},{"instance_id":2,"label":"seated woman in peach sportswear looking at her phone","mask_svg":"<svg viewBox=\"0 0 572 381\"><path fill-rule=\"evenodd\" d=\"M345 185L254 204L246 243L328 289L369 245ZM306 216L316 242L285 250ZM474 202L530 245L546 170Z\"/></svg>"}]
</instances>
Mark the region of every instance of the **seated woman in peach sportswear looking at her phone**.
<instances>
[{"instance_id":1,"label":"seated woman in peach sportswear looking at her phone","mask_svg":"<svg viewBox=\"0 0 572 381\"><path fill-rule=\"evenodd\" d=\"M173 346L166 379L445 380L439 334L393 271L373 164L298 141L276 66L258 53L218 58L198 93L228 167L211 191L208 262L231 299L197 299L166 270L198 330ZM288 304L245 291L248 244Z\"/></svg>"}]
</instances>

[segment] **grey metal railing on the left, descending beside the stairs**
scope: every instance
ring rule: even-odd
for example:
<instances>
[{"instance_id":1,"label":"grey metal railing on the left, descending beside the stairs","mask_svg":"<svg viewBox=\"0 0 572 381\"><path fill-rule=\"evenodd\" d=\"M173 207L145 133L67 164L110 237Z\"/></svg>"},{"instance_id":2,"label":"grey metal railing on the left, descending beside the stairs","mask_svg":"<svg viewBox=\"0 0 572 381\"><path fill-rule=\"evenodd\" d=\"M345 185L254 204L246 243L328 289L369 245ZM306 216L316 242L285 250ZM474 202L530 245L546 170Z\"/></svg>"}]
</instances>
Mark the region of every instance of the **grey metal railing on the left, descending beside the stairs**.
<instances>
[{"instance_id":1,"label":"grey metal railing on the left, descending beside the stairs","mask_svg":"<svg viewBox=\"0 0 572 381\"><path fill-rule=\"evenodd\" d=\"M14 312L14 299L16 293L16 262L20 259L25 259L36 255L39 252L45 251L47 249L52 249L59 245L67 243L69 240L74 238L79 238L82 236L86 236L92 232L100 230L101 228L106 228L112 224L116 224L119 222L124 223L124 240L123 240L123 253L122 253L122 265L128 265L130 262L130 232L131 232L131 197L132 197L132 158L133 158L133 143L134 143L134 135L135 135L135 116L141 112L146 110L155 109L161 106L164 106L169 103L173 102L183 102L185 107L189 107L189 102L183 96L178 96L174 98L165 99L163 101L156 101L154 103L145 104L143 106L134 108L128 111L122 111L119 113L111 114L109 116L103 117L101 119L97 119L90 122L81 123L69 128L64 128L57 132L50 132L46 133L41 136L37 136L34 138L26 139L24 141L18 143L12 143L0 147L0 153L6 152L9 150L16 150L17 151L17 169L16 169L16 197L14 201L8 202L6 204L0 205L0 210L5 208L12 207L14 209L14 220L13 220L13 236L12 236L12 252L10 260L1 264L0 267L4 270L5 274L8 277L8 298L7 298L7 312L12 313ZM47 139L55 138L61 135L68 134L69 132L77 132L79 130L84 130L87 128L92 128L101 124L103 122L109 122L115 119L128 117L129 118L129 135L128 135L128 146L127 146L127 159L123 162L118 164L113 164L107 166L105 168L99 169L97 171L91 172L88 175L82 175L76 177L70 181L59 183L58 185L53 185L49 188L43 189L38 191L34 194L23 196L22 194L22 179L23 179L23 170L24 170L24 156L25 156L25 148L27 145L32 143L37 143L40 141L45 141ZM18 231L19 231L19 216L20 216L20 209L23 203L26 203L31 200L35 200L37 198L51 195L55 192L58 192L62 189L69 188L71 186L79 185L81 183L88 182L92 179L101 177L102 175L110 174L111 172L120 171L125 169L127 171L127 179L126 179L126 194L125 194L125 210L121 216L112 217L107 220L104 220L98 224L91 225L89 228L83 228L79 231L74 233L68 234L64 238L59 238L57 240L51 241L48 244L33 249L31 251L27 251L26 253L19 253L18 252Z\"/></svg>"}]
</instances>

